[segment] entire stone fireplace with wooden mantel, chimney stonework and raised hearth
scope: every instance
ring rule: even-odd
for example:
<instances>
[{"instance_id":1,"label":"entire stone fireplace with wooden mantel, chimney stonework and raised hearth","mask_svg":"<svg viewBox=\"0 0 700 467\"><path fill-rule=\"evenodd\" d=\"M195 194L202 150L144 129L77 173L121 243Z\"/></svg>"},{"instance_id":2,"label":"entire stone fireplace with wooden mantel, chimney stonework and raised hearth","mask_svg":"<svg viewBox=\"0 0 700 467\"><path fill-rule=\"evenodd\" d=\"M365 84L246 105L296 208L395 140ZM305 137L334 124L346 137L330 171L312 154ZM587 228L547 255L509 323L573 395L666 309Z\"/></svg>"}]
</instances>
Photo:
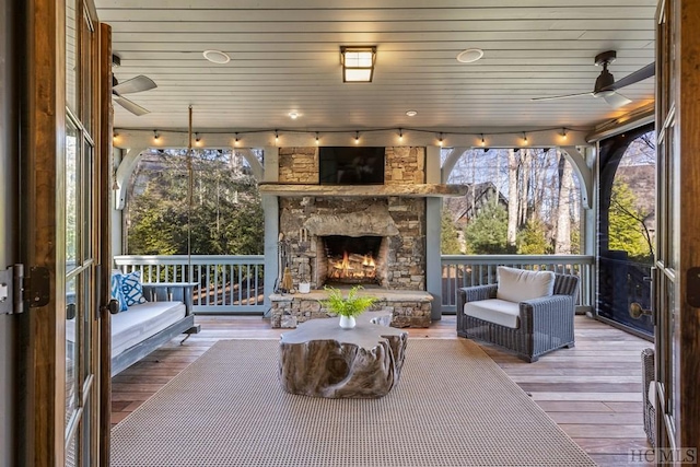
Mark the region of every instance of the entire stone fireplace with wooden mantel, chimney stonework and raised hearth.
<instances>
[{"instance_id":1,"label":"entire stone fireplace with wooden mantel, chimney stonework and raised hearth","mask_svg":"<svg viewBox=\"0 0 700 467\"><path fill-rule=\"evenodd\" d=\"M318 300L325 285L360 284L378 297L373 310L390 311L393 325L427 327L427 197L450 196L448 186L425 184L425 148L386 148L384 184L319 183L317 148L279 149L279 177L261 185L276 195L279 237L298 289L311 293L270 296L273 327L294 327L327 316Z\"/></svg>"}]
</instances>

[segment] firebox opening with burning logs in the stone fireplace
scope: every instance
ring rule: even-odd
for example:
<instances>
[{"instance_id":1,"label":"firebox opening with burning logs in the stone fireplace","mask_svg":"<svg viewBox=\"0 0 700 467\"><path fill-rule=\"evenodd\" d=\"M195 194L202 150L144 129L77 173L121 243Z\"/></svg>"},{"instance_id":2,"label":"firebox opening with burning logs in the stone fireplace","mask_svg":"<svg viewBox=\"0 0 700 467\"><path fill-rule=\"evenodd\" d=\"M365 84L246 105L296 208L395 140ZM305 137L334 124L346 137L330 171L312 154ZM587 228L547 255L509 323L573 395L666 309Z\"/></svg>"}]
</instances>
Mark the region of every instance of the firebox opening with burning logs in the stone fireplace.
<instances>
[{"instance_id":1,"label":"firebox opening with burning logs in the stone fireplace","mask_svg":"<svg viewBox=\"0 0 700 467\"><path fill-rule=\"evenodd\" d=\"M324 237L328 261L326 284L377 284L381 236Z\"/></svg>"}]
</instances>

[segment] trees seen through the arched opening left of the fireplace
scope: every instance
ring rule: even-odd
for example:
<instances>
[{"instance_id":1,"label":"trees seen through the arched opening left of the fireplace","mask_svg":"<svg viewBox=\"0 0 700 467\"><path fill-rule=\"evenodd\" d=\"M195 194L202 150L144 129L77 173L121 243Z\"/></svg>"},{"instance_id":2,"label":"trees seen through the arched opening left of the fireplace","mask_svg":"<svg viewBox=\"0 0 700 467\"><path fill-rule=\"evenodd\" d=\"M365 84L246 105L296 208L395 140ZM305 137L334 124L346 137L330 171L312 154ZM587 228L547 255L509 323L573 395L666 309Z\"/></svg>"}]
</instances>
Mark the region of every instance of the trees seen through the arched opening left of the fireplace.
<instances>
[{"instance_id":1,"label":"trees seen through the arched opening left of the fireplace","mask_svg":"<svg viewBox=\"0 0 700 467\"><path fill-rule=\"evenodd\" d=\"M215 154L192 157L191 206L186 157L164 156L138 175L128 205L129 254L186 255L188 244L194 255L262 253L257 185L226 161Z\"/></svg>"}]
</instances>

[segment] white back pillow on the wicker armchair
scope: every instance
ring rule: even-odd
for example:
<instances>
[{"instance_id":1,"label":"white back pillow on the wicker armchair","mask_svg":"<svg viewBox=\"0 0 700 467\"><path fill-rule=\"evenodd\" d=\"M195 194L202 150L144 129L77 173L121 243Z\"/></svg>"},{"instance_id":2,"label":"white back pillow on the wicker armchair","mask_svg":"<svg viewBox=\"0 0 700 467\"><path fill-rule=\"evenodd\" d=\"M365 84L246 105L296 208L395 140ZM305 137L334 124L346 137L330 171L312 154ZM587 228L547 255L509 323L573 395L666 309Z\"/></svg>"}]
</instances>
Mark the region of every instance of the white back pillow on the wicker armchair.
<instances>
[{"instance_id":1,"label":"white back pillow on the wicker armchair","mask_svg":"<svg viewBox=\"0 0 700 467\"><path fill-rule=\"evenodd\" d=\"M555 292L555 273L552 271L526 271L499 266L497 272L499 280L497 299L518 303L540 296L550 296Z\"/></svg>"}]
</instances>

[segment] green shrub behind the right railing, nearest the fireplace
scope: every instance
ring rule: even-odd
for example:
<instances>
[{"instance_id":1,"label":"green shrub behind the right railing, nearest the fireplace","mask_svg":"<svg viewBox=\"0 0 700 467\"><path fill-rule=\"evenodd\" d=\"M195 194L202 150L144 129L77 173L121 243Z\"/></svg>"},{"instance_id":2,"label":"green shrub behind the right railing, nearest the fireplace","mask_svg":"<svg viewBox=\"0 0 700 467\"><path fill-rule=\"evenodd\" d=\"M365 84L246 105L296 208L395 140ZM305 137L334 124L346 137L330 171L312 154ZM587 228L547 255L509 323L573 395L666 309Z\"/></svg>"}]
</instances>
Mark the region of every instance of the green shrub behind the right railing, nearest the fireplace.
<instances>
[{"instance_id":1,"label":"green shrub behind the right railing, nearest the fireplace","mask_svg":"<svg viewBox=\"0 0 700 467\"><path fill-rule=\"evenodd\" d=\"M464 230L469 255L498 255L513 253L508 246L508 211L490 202Z\"/></svg>"}]
</instances>

